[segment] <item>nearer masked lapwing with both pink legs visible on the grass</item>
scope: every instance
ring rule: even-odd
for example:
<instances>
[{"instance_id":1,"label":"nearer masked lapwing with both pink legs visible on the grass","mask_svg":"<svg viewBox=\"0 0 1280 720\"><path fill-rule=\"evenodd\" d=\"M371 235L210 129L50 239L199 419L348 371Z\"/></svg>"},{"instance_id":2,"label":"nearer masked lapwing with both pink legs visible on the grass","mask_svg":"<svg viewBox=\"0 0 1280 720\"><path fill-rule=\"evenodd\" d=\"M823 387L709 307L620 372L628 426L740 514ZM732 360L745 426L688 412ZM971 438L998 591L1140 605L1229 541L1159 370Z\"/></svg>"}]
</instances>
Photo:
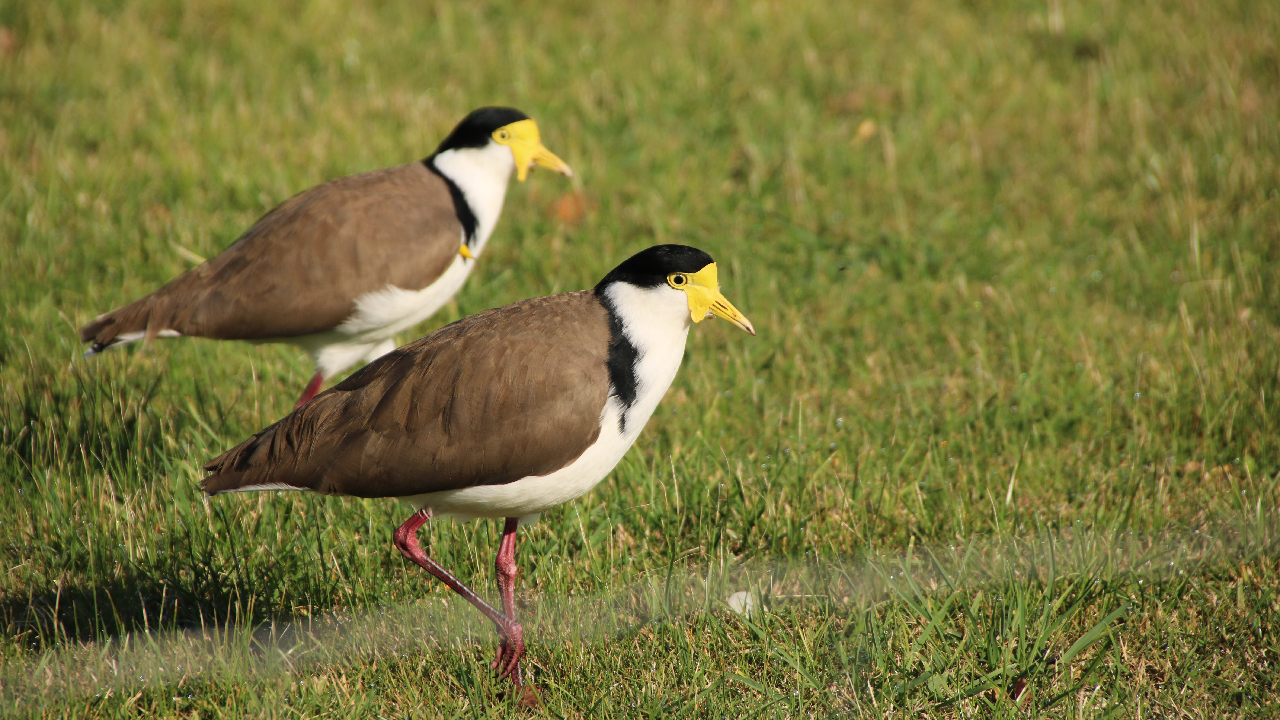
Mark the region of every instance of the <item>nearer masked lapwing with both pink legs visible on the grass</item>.
<instances>
[{"instance_id":1,"label":"nearer masked lapwing with both pink legs visible on the grass","mask_svg":"<svg viewBox=\"0 0 1280 720\"><path fill-rule=\"evenodd\" d=\"M593 291L525 300L440 328L370 363L205 465L209 495L306 489L417 507L394 533L406 557L498 628L493 667L521 683L516 529L599 483L667 392L689 328L712 315L755 334L721 295L716 263L650 247ZM502 610L422 551L436 516L506 520Z\"/></svg>"}]
</instances>

